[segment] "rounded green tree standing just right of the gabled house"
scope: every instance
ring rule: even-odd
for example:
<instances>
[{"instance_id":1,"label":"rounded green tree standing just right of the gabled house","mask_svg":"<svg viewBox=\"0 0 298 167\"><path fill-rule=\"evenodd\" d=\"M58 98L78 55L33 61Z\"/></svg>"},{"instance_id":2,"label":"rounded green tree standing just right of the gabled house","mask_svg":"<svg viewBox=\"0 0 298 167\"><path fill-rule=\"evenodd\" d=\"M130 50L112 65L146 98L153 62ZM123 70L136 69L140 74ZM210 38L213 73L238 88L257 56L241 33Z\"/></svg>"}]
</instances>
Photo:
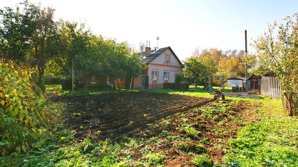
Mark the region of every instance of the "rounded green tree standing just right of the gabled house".
<instances>
[{"instance_id":1,"label":"rounded green tree standing just right of the gabled house","mask_svg":"<svg viewBox=\"0 0 298 167\"><path fill-rule=\"evenodd\" d=\"M185 70L185 77L195 78L195 87L197 87L198 82L205 76L215 74L217 67L215 66L215 61L209 60L207 57L188 57L183 61Z\"/></svg>"}]
</instances>

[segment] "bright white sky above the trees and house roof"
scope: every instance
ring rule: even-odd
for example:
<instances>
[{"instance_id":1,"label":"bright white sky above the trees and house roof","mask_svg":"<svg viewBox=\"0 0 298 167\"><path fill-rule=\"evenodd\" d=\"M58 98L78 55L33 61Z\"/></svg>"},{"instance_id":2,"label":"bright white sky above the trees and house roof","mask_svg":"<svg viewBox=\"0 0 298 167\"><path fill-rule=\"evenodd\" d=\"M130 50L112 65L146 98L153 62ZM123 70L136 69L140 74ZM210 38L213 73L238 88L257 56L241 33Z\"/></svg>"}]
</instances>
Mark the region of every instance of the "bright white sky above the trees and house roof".
<instances>
[{"instance_id":1,"label":"bright white sky above the trees and house roof","mask_svg":"<svg viewBox=\"0 0 298 167\"><path fill-rule=\"evenodd\" d=\"M0 8L13 7L18 0L1 0ZM196 47L201 49L245 49L248 43L275 20L298 12L298 1L76 1L31 0L55 9L55 20L83 21L97 35L139 41L156 46L170 46L180 60L189 57ZM266 30L267 31L267 30ZM252 40L251 40L252 38ZM248 46L249 51L254 49Z\"/></svg>"}]
</instances>

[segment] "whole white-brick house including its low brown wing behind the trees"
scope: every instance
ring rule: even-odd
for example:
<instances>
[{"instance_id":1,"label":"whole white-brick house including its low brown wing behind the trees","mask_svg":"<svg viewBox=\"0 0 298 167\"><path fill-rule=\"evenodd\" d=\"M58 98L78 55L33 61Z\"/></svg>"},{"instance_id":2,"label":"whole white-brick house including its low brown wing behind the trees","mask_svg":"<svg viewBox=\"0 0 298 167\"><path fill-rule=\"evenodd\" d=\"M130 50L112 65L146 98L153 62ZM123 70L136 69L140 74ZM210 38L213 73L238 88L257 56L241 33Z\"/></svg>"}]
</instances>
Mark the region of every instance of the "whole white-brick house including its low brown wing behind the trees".
<instances>
[{"instance_id":1,"label":"whole white-brick house including its low brown wing behind the trees","mask_svg":"<svg viewBox=\"0 0 298 167\"><path fill-rule=\"evenodd\" d=\"M182 74L182 63L176 56L170 46L151 50L150 47L136 53L142 56L140 63L145 63L148 67L142 68L139 77L126 77L126 79L118 79L121 89L151 89L163 88L163 83L174 82L176 74ZM112 76L104 75L87 75L86 86L88 88L108 88L111 83L115 88L117 81Z\"/></svg>"}]
</instances>

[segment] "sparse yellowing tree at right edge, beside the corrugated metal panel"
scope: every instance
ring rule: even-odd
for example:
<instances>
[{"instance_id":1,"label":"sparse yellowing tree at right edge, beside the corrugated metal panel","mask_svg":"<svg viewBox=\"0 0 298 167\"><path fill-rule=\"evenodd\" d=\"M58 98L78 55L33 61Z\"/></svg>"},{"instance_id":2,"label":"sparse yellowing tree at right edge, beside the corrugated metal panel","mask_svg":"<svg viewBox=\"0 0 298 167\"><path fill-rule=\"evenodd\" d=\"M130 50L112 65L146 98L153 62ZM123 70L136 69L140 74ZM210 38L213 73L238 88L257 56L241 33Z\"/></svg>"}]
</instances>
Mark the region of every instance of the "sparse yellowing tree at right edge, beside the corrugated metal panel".
<instances>
[{"instance_id":1,"label":"sparse yellowing tree at right edge, beside the corrugated metal panel","mask_svg":"<svg viewBox=\"0 0 298 167\"><path fill-rule=\"evenodd\" d=\"M283 19L285 24L268 25L268 32L252 44L260 60L260 73L270 72L279 80L283 104L288 116L297 114L298 107L298 16ZM274 30L277 29L277 32Z\"/></svg>"}]
</instances>

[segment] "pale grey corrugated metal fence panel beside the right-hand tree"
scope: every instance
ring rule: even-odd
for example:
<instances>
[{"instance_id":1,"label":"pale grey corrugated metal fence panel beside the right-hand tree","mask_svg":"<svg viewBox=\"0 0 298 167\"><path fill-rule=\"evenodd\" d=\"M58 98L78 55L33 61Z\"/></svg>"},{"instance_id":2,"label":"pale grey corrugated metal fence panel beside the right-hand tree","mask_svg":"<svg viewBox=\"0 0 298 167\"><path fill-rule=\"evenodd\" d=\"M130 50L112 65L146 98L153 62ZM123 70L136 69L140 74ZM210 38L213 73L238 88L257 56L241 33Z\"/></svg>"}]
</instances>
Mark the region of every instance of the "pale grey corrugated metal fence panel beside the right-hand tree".
<instances>
[{"instance_id":1,"label":"pale grey corrugated metal fence panel beside the right-hand tree","mask_svg":"<svg viewBox=\"0 0 298 167\"><path fill-rule=\"evenodd\" d=\"M262 77L261 95L280 98L281 88L275 77Z\"/></svg>"}]
</instances>

